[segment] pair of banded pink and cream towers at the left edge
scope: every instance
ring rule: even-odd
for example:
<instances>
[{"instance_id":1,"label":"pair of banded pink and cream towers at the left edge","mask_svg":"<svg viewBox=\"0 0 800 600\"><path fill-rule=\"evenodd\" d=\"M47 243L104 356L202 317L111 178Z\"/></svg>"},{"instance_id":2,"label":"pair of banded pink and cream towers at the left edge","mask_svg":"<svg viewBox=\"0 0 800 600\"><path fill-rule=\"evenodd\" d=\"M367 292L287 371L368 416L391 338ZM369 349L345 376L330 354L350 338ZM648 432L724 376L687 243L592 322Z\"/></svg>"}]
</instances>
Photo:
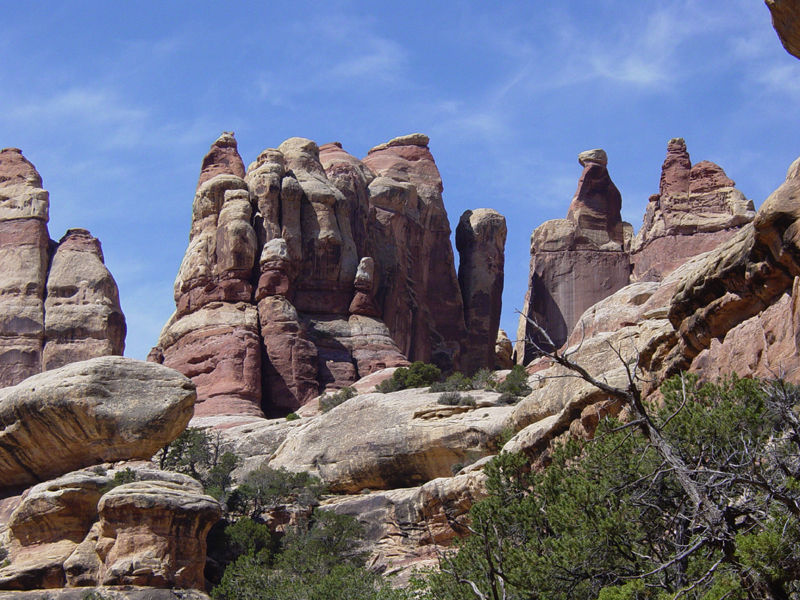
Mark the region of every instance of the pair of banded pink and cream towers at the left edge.
<instances>
[{"instance_id":1,"label":"pair of banded pink and cream towers at the left edge","mask_svg":"<svg viewBox=\"0 0 800 600\"><path fill-rule=\"evenodd\" d=\"M36 168L20 150L0 150L0 387L125 347L125 318L100 242L71 229L56 244L48 211Z\"/></svg>"}]
</instances>

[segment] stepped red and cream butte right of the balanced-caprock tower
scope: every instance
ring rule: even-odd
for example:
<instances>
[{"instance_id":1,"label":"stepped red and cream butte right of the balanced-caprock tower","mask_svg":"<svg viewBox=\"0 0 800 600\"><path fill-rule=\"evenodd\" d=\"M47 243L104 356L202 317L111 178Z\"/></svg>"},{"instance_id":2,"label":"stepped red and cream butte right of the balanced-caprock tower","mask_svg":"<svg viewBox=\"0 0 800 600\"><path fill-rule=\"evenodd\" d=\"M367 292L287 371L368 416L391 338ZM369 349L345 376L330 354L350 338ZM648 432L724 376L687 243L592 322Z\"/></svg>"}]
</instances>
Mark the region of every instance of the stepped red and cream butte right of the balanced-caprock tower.
<instances>
[{"instance_id":1,"label":"stepped red and cream butte right of the balanced-caprock tower","mask_svg":"<svg viewBox=\"0 0 800 600\"><path fill-rule=\"evenodd\" d=\"M686 143L669 141L659 193L650 197L631 247L633 279L660 281L755 217L753 202L712 162L692 166Z\"/></svg>"}]
</instances>

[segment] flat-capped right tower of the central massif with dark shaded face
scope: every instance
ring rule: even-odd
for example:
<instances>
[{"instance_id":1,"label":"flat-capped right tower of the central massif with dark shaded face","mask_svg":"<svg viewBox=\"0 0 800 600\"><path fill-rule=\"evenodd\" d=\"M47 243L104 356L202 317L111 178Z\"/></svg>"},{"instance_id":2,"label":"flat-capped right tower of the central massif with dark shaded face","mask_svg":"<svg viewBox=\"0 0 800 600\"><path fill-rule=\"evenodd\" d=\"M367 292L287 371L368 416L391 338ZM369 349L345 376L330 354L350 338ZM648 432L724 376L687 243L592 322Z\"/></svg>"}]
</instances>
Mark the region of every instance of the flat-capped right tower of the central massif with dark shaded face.
<instances>
[{"instance_id":1,"label":"flat-capped right tower of the central massif with dark shaded face","mask_svg":"<svg viewBox=\"0 0 800 600\"><path fill-rule=\"evenodd\" d=\"M382 274L376 296L383 319L409 360L445 370L460 366L466 338L442 180L422 134L369 151L364 164L375 209L374 247Z\"/></svg>"}]
</instances>

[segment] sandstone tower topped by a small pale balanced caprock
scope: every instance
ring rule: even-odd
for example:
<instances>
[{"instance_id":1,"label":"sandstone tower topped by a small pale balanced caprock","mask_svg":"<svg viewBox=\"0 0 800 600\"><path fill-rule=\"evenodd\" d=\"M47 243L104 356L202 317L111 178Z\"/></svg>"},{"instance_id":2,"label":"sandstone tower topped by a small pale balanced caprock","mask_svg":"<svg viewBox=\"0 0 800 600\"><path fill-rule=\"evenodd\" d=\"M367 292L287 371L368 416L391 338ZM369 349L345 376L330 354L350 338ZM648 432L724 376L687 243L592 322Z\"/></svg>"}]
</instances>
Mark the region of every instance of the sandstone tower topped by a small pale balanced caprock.
<instances>
[{"instance_id":1,"label":"sandstone tower topped by a small pale balanced caprock","mask_svg":"<svg viewBox=\"0 0 800 600\"><path fill-rule=\"evenodd\" d=\"M547 221L531 237L528 292L517 331L517 362L527 364L535 320L555 347L567 341L583 312L628 284L633 229L622 221L622 197L603 150L582 152L583 173L566 219ZM543 343L543 340L538 340Z\"/></svg>"}]
</instances>

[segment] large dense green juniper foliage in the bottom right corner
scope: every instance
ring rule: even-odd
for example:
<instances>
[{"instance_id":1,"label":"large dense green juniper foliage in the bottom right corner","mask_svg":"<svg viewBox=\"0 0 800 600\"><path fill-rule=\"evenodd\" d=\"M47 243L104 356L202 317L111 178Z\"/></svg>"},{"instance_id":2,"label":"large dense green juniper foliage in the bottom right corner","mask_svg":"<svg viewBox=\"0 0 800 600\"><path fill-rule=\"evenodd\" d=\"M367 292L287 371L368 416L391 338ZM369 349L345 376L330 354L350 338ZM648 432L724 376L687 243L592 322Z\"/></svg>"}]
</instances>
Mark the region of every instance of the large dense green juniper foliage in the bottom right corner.
<instances>
[{"instance_id":1,"label":"large dense green juniper foliage in the bottom right corner","mask_svg":"<svg viewBox=\"0 0 800 600\"><path fill-rule=\"evenodd\" d=\"M800 597L797 390L735 378L700 386L685 376L662 393L654 423L721 519L693 508L638 427L605 421L594 440L556 447L543 471L509 453L487 465L489 496L471 510L474 533L428 576L423 595Z\"/></svg>"}]
</instances>

